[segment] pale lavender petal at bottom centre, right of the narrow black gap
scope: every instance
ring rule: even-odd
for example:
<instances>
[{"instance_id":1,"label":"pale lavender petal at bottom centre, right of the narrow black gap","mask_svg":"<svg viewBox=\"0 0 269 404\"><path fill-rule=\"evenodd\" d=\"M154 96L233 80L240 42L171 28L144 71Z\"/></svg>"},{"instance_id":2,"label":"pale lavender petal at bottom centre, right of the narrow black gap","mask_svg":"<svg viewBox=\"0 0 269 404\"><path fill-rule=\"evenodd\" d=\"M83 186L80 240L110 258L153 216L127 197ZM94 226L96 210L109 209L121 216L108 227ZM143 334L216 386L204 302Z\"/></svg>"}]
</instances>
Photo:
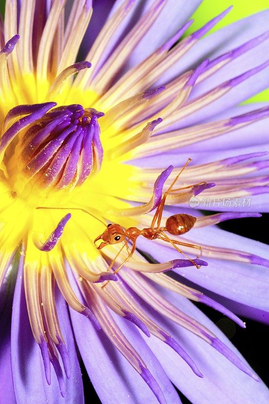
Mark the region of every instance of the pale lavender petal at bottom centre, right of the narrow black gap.
<instances>
[{"instance_id":1,"label":"pale lavender petal at bottom centre, right of the narrow black gap","mask_svg":"<svg viewBox=\"0 0 269 404\"><path fill-rule=\"evenodd\" d=\"M72 287L77 295L79 290L74 279ZM76 341L90 380L103 404L137 404L150 402L158 404L141 376L119 353L102 331L96 331L91 323L79 313L70 309ZM122 327L128 323L122 319ZM85 336L87 344L85 344ZM143 342L139 331L132 327L131 343L148 363L149 370L162 388L167 404L180 404L180 399L166 374ZM129 335L128 335L129 339ZM150 339L150 338L147 338ZM103 382L105 380L105 383ZM111 387L113 386L113 388Z\"/></svg>"}]
</instances>

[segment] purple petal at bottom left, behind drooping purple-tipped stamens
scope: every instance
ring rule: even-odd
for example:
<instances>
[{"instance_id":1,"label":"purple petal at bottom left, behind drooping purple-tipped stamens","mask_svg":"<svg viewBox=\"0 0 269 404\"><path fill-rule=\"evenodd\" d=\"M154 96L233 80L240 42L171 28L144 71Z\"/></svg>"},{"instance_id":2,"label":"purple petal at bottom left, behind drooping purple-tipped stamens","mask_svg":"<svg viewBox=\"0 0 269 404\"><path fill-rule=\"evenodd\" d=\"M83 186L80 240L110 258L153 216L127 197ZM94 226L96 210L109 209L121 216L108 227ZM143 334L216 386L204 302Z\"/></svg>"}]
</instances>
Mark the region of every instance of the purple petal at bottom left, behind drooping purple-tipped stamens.
<instances>
[{"instance_id":1,"label":"purple petal at bottom left, behind drooping purple-tipped stamens","mask_svg":"<svg viewBox=\"0 0 269 404\"><path fill-rule=\"evenodd\" d=\"M65 404L74 404L76 402L84 404L81 371L66 302L58 291L58 316L70 358L72 377L68 380L64 376L65 398L61 395L54 370L51 370L51 385L49 386L46 382L41 352L33 338L28 319L23 286L23 261L24 256L22 255L13 300L11 329L11 363L17 403L36 404L36 402L49 402L59 404L63 402ZM60 364L63 368L61 359Z\"/></svg>"}]
</instances>

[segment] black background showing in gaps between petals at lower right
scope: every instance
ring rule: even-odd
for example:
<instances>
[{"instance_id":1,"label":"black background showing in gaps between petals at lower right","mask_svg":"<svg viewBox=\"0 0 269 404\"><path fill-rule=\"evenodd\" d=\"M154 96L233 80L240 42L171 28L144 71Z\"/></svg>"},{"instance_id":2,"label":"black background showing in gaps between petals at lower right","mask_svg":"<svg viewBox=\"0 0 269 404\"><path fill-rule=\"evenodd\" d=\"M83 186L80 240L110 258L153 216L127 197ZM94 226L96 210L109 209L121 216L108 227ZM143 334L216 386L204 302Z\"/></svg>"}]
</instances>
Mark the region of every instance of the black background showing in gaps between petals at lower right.
<instances>
[{"instance_id":1,"label":"black background showing in gaps between petals at lower right","mask_svg":"<svg viewBox=\"0 0 269 404\"><path fill-rule=\"evenodd\" d=\"M224 230L240 234L266 244L268 244L269 241L267 232L269 227L269 214L263 214L262 218L228 220L220 223L218 226ZM268 361L265 358L266 352L268 352L269 327L265 324L260 324L256 321L252 321L240 316L243 321L247 322L247 328L242 329L237 324L234 324L232 320L225 318L216 310L212 310L201 304L197 304L197 306L215 324L217 324L219 328L221 328L232 343L238 348L258 376L264 381L265 384L269 385L269 373L267 367ZM85 403L91 402L91 404L101 404L101 401L99 400L91 385L91 382L89 381L83 364L81 364L81 366L85 388ZM178 393L183 404L191 404L191 402L180 391L178 391Z\"/></svg>"}]
</instances>

